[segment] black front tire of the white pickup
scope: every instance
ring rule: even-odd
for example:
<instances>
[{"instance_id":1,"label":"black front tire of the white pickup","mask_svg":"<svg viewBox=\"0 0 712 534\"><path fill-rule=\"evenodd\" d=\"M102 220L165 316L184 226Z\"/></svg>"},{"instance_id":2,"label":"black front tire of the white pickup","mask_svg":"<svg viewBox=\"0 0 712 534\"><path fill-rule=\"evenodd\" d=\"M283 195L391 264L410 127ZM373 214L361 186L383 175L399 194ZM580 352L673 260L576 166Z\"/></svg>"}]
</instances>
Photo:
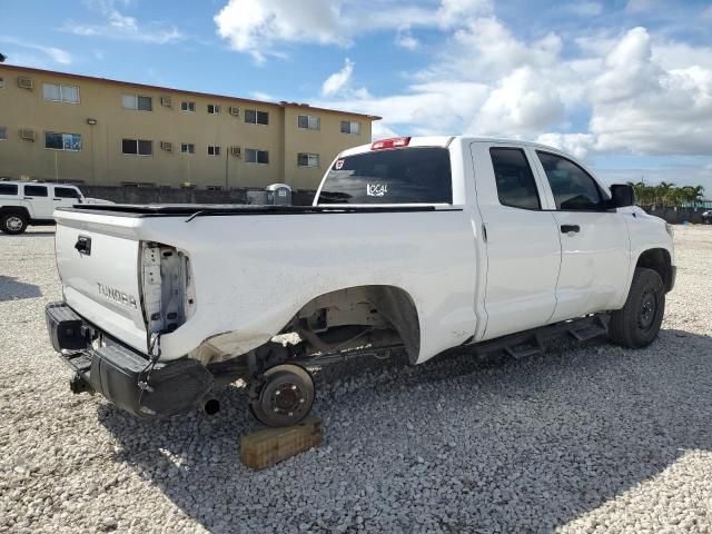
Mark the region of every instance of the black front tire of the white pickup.
<instances>
[{"instance_id":1,"label":"black front tire of the white pickup","mask_svg":"<svg viewBox=\"0 0 712 534\"><path fill-rule=\"evenodd\" d=\"M653 269L636 268L625 306L611 314L609 337L623 347L646 347L657 336L664 314L662 278Z\"/></svg>"}]
</instances>

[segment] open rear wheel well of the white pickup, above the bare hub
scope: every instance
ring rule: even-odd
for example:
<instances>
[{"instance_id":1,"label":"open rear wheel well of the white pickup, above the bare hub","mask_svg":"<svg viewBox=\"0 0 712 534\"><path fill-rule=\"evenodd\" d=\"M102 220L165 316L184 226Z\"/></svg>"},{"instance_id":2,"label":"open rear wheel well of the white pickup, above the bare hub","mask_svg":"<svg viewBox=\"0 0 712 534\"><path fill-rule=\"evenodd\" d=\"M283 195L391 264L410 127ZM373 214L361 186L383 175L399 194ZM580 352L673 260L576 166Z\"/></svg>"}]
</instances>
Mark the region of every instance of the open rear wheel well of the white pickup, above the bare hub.
<instances>
[{"instance_id":1,"label":"open rear wheel well of the white pickup, above the bare hub","mask_svg":"<svg viewBox=\"0 0 712 534\"><path fill-rule=\"evenodd\" d=\"M313 349L402 343L415 362L421 327L415 303L395 286L357 286L320 295L307 303L284 332L296 332Z\"/></svg>"}]
</instances>

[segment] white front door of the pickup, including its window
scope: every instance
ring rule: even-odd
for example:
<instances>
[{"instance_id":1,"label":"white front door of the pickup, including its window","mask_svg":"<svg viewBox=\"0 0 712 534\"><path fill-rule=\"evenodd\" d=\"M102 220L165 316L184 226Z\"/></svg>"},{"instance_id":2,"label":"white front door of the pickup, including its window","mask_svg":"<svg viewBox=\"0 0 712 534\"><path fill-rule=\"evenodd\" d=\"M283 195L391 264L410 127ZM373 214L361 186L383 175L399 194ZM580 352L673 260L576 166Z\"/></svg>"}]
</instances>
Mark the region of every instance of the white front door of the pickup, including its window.
<instances>
[{"instance_id":1,"label":"white front door of the pickup, including its window","mask_svg":"<svg viewBox=\"0 0 712 534\"><path fill-rule=\"evenodd\" d=\"M580 165L536 150L553 200L562 261L552 322L611 309L625 293L631 261L627 225L607 209L607 195Z\"/></svg>"}]
</instances>

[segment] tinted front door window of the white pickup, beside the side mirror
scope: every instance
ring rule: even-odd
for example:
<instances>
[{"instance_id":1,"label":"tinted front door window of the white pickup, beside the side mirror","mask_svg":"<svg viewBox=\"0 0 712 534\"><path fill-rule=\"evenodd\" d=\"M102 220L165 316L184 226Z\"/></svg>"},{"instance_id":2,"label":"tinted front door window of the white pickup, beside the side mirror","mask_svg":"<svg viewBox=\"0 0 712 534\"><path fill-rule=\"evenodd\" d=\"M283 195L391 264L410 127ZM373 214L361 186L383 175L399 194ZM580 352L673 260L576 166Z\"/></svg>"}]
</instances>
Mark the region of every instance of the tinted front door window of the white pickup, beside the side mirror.
<instances>
[{"instance_id":1,"label":"tinted front door window of the white pickup, beside the side mirror","mask_svg":"<svg viewBox=\"0 0 712 534\"><path fill-rule=\"evenodd\" d=\"M586 211L605 209L605 200L595 180L585 170L566 158L536 151L548 185L554 194L556 209Z\"/></svg>"}]
</instances>

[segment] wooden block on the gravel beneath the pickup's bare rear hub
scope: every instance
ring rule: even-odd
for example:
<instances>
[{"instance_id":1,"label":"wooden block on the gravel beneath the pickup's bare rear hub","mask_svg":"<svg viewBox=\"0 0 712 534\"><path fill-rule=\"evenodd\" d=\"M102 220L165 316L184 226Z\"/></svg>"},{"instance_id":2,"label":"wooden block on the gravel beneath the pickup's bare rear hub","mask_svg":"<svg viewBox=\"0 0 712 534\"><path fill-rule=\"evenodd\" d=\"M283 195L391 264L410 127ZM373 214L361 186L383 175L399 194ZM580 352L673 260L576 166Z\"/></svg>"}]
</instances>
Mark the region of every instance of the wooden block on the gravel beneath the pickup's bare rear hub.
<instances>
[{"instance_id":1,"label":"wooden block on the gravel beneath the pickup's bare rear hub","mask_svg":"<svg viewBox=\"0 0 712 534\"><path fill-rule=\"evenodd\" d=\"M253 469L283 462L322 444L322 419L312 415L284 428L263 428L240 438L240 457Z\"/></svg>"}]
</instances>

